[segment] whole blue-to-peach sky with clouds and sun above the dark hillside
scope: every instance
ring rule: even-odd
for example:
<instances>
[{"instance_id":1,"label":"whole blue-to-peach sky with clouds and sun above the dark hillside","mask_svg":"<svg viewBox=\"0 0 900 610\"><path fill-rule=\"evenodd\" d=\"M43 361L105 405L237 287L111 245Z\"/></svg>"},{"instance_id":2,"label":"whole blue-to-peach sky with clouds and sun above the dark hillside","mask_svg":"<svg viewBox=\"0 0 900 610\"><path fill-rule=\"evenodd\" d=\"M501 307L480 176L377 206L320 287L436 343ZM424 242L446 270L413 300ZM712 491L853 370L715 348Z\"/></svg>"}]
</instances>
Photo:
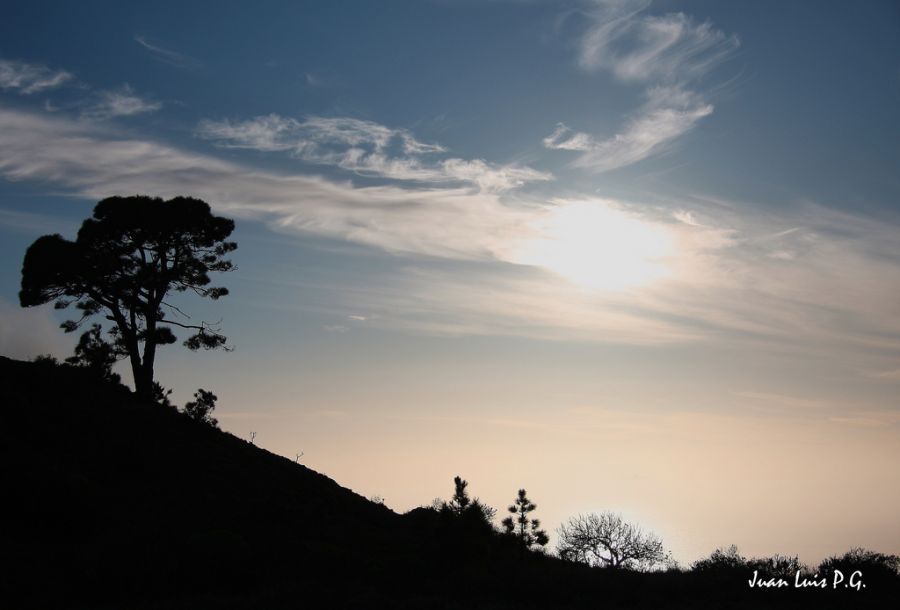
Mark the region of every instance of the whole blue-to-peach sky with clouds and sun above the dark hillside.
<instances>
[{"instance_id":1,"label":"whole blue-to-peach sky with clouds and sun above the dark hillside","mask_svg":"<svg viewBox=\"0 0 900 610\"><path fill-rule=\"evenodd\" d=\"M685 565L900 553L898 104L891 2L11 1L0 354L77 339L18 305L34 239L190 195L235 349L157 378L223 429Z\"/></svg>"}]
</instances>

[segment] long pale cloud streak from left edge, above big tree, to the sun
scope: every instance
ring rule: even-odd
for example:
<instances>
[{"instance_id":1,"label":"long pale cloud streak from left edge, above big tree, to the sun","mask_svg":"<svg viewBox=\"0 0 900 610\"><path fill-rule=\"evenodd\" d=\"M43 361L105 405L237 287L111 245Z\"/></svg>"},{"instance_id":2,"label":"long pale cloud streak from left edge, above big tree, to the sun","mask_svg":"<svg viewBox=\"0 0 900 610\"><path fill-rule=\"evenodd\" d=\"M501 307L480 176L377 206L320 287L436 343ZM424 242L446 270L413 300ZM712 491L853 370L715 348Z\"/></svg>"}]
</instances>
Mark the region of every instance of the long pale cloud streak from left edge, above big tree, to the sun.
<instances>
[{"instance_id":1,"label":"long pale cloud streak from left edge, above big tree, to the sun","mask_svg":"<svg viewBox=\"0 0 900 610\"><path fill-rule=\"evenodd\" d=\"M492 258L529 217L495 191L354 187L314 175L257 171L123 139L100 124L2 107L0 173L11 180L56 182L90 198L191 193L221 211L266 220L279 230L460 260Z\"/></svg>"}]
</instances>

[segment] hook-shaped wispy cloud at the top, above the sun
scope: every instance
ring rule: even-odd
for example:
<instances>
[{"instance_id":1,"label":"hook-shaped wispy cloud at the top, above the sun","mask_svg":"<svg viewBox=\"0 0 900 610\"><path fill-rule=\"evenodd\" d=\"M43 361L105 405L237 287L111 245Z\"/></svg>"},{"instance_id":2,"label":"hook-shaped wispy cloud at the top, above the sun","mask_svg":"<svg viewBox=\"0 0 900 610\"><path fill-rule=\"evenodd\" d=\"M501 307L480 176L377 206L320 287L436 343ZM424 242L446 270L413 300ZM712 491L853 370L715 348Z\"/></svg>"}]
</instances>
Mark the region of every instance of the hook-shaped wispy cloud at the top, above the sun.
<instances>
[{"instance_id":1,"label":"hook-shaped wispy cloud at the top, above the sun","mask_svg":"<svg viewBox=\"0 0 900 610\"><path fill-rule=\"evenodd\" d=\"M619 133L597 137L564 123L544 138L544 146L581 153L573 165L593 172L625 167L670 147L713 112L688 83L724 61L738 46L709 23L683 13L647 15L646 1L598 0L590 25L578 42L578 63L617 79L649 85L647 101Z\"/></svg>"}]
</instances>

